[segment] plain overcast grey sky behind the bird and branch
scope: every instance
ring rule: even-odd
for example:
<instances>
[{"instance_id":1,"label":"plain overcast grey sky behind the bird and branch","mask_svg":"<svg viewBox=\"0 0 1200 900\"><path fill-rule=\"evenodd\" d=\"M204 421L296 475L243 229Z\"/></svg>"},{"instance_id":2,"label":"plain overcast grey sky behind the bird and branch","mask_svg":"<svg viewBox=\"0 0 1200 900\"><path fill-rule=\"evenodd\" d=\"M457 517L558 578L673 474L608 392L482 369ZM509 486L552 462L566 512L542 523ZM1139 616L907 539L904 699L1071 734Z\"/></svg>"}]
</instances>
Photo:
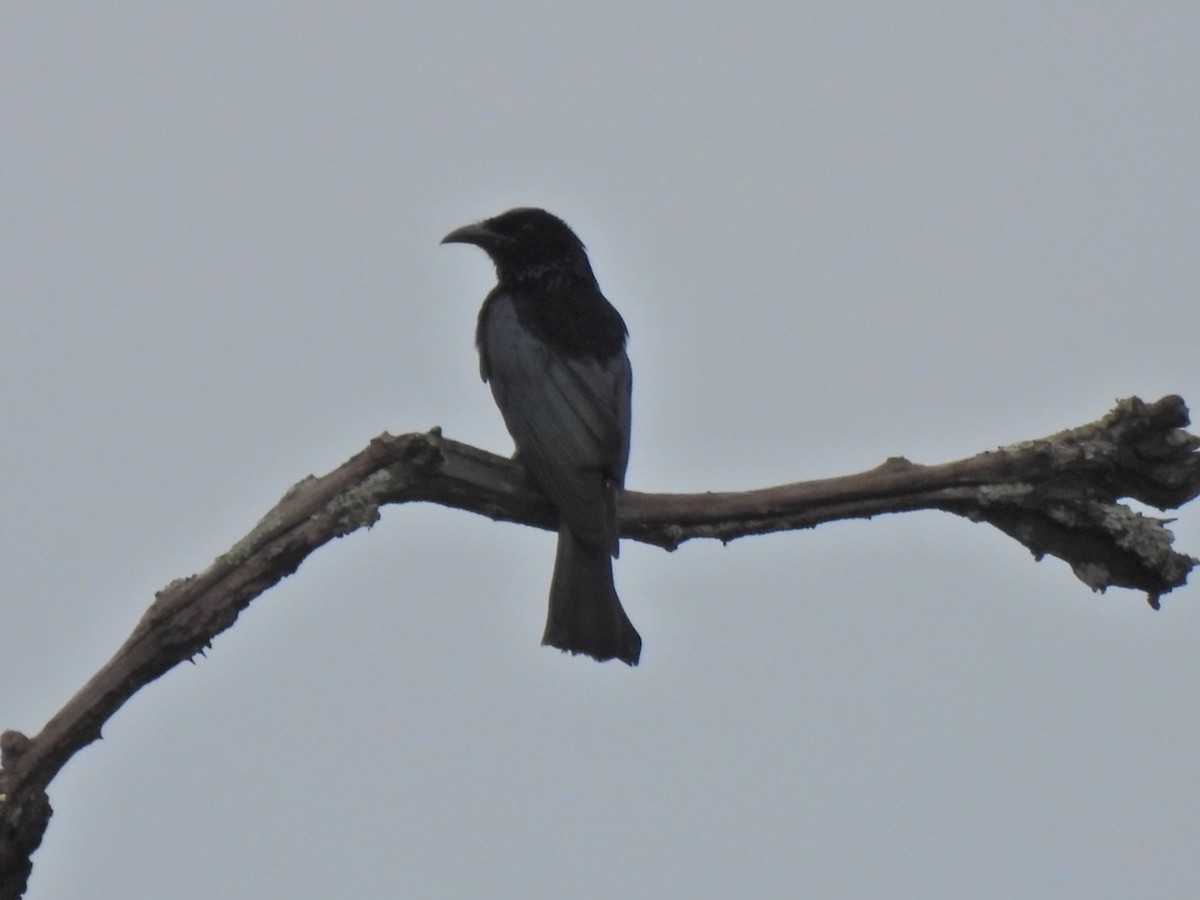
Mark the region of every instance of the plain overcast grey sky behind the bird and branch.
<instances>
[{"instance_id":1,"label":"plain overcast grey sky behind the bird and branch","mask_svg":"<svg viewBox=\"0 0 1200 900\"><path fill-rule=\"evenodd\" d=\"M4 17L0 727L372 436L509 451L438 247L509 206L629 323L632 488L1200 406L1194 5L184 6ZM628 670L539 647L552 559L323 548L54 782L29 896L1200 893L1195 587L936 514L626 544Z\"/></svg>"}]
</instances>

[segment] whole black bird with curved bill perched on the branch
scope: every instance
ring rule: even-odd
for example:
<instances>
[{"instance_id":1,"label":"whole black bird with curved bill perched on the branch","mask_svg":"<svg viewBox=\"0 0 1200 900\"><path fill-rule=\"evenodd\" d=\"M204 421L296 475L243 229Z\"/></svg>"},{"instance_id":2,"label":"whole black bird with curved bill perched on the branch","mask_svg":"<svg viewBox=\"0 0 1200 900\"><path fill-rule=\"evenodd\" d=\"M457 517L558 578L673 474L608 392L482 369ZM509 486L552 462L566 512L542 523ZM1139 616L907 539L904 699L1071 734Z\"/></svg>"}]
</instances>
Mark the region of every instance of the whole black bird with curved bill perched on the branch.
<instances>
[{"instance_id":1,"label":"whole black bird with curved bill perched on the branch","mask_svg":"<svg viewBox=\"0 0 1200 900\"><path fill-rule=\"evenodd\" d=\"M642 638L612 583L629 462L625 322L600 293L583 242L545 210L509 210L442 242L474 244L496 264L475 331L480 374L516 458L559 515L541 642L635 666Z\"/></svg>"}]
</instances>

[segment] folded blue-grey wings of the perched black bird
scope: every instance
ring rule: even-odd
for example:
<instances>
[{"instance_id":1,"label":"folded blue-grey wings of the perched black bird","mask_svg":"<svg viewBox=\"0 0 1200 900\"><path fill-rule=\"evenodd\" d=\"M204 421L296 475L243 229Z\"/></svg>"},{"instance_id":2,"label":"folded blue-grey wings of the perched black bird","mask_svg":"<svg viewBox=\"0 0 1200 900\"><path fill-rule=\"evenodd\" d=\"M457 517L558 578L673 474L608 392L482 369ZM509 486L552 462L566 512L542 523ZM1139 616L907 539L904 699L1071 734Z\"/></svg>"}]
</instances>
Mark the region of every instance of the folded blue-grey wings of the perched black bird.
<instances>
[{"instance_id":1,"label":"folded blue-grey wings of the perched black bird","mask_svg":"<svg viewBox=\"0 0 1200 900\"><path fill-rule=\"evenodd\" d=\"M492 394L530 475L581 540L613 545L613 491L629 458L629 359L563 358L504 296L493 299L485 332Z\"/></svg>"}]
</instances>

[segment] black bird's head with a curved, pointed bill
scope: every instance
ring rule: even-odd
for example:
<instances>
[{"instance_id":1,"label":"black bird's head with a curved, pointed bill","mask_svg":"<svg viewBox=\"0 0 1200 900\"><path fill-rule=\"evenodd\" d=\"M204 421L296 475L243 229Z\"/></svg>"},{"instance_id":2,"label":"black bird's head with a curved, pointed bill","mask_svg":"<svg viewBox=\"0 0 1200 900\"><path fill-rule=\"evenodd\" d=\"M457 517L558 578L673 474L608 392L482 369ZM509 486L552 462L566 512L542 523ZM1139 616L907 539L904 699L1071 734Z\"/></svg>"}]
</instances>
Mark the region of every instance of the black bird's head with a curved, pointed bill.
<instances>
[{"instance_id":1,"label":"black bird's head with a curved, pointed bill","mask_svg":"<svg viewBox=\"0 0 1200 900\"><path fill-rule=\"evenodd\" d=\"M593 277L583 241L566 222L544 209L510 209L482 222L456 228L442 242L474 244L482 248L496 263L502 282Z\"/></svg>"}]
</instances>

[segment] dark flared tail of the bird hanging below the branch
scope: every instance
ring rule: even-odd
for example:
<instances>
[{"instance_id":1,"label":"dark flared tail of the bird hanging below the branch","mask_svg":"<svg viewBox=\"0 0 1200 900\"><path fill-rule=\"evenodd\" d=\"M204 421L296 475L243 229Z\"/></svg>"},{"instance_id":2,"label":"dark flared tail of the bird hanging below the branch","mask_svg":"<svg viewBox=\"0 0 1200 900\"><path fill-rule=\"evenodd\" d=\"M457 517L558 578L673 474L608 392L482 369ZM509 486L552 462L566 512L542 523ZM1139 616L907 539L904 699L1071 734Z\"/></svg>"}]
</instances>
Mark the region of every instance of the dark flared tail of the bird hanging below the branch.
<instances>
[{"instance_id":1,"label":"dark flared tail of the bird hanging below the branch","mask_svg":"<svg viewBox=\"0 0 1200 900\"><path fill-rule=\"evenodd\" d=\"M601 662L619 659L637 665L642 638L629 620L612 583L612 557L558 530L554 576L550 582L550 614L541 642Z\"/></svg>"}]
</instances>

